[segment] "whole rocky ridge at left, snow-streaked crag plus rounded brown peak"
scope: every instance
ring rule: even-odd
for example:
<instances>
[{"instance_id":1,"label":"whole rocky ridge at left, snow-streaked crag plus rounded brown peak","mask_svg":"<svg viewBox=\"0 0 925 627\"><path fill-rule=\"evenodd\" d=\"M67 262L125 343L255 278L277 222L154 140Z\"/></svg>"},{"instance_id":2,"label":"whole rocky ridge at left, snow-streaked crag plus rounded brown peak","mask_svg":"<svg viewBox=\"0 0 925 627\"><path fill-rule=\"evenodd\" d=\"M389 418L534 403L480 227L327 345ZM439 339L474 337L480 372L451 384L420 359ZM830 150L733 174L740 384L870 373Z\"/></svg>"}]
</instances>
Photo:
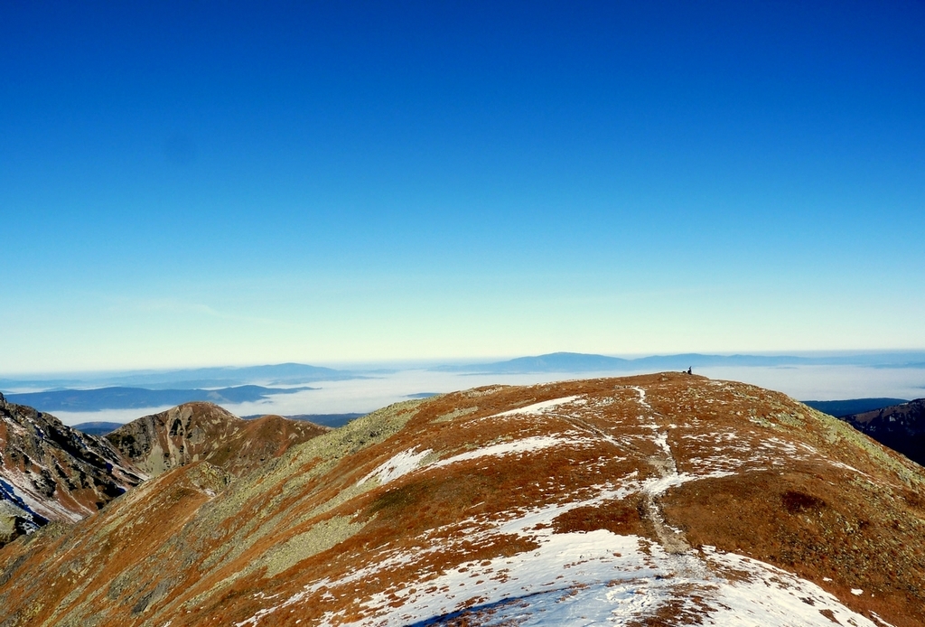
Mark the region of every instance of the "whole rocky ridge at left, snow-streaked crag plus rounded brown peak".
<instances>
[{"instance_id":1,"label":"whole rocky ridge at left, snow-streaked crag plus rounded brown peak","mask_svg":"<svg viewBox=\"0 0 925 627\"><path fill-rule=\"evenodd\" d=\"M173 468L209 461L240 475L328 430L279 416L244 421L196 402L98 437L0 395L0 546L50 522L76 523Z\"/></svg>"}]
</instances>

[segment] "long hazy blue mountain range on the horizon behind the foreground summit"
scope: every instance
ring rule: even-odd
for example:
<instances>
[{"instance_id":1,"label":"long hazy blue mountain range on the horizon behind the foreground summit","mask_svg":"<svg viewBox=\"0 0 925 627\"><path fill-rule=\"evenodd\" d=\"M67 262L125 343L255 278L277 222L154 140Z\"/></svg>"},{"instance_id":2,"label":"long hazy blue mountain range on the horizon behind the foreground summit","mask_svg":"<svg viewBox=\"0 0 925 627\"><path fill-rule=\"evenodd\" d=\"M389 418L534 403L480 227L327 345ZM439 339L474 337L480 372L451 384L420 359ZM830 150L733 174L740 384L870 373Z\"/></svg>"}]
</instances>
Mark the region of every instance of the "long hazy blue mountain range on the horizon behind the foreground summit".
<instances>
[{"instance_id":1,"label":"long hazy blue mountain range on the horizon behind the foreground summit","mask_svg":"<svg viewBox=\"0 0 925 627\"><path fill-rule=\"evenodd\" d=\"M442 365L439 372L479 375L589 372L660 372L705 366L867 365L882 368L925 368L925 353L876 353L830 357L795 355L705 355L682 353L623 359L581 352L551 352L503 362Z\"/></svg>"}]
</instances>

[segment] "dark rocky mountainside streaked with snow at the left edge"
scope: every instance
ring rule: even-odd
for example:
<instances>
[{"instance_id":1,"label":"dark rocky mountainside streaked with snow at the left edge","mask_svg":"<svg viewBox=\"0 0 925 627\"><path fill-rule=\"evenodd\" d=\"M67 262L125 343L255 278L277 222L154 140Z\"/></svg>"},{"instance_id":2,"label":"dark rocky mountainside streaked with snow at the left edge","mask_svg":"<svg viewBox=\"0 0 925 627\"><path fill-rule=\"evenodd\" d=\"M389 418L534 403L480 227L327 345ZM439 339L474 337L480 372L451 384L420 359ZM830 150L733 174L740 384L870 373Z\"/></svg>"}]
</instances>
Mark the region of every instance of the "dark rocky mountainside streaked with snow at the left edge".
<instances>
[{"instance_id":1,"label":"dark rocky mountainside streaked with snow at the left edge","mask_svg":"<svg viewBox=\"0 0 925 627\"><path fill-rule=\"evenodd\" d=\"M0 546L51 521L79 521L142 478L109 442L0 395Z\"/></svg>"}]
</instances>

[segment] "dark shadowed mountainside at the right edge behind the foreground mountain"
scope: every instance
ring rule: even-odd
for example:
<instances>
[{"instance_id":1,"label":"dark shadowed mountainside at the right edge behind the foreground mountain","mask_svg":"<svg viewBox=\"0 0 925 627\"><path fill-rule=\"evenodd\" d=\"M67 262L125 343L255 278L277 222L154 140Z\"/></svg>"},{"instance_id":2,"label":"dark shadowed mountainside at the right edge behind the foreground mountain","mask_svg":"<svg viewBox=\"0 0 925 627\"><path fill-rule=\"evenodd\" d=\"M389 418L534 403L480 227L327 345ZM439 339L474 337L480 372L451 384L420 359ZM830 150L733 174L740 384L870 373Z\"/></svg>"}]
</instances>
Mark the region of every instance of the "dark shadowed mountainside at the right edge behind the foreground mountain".
<instances>
[{"instance_id":1,"label":"dark shadowed mountainside at the right edge behind the foreground mountain","mask_svg":"<svg viewBox=\"0 0 925 627\"><path fill-rule=\"evenodd\" d=\"M925 466L925 399L844 417L882 445Z\"/></svg>"}]
</instances>

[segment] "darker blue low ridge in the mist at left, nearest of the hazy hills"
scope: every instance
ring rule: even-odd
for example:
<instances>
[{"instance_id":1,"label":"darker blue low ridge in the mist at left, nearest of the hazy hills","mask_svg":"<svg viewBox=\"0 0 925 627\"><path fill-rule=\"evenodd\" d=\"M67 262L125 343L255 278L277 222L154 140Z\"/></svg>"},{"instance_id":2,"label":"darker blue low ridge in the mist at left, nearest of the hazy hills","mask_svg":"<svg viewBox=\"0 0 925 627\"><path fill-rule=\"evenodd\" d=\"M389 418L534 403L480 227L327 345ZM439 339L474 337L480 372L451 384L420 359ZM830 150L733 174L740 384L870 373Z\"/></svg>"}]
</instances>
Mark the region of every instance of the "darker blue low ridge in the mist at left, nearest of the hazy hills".
<instances>
[{"instance_id":1,"label":"darker blue low ridge in the mist at left, nearest of the hazy hills","mask_svg":"<svg viewBox=\"0 0 925 627\"><path fill-rule=\"evenodd\" d=\"M7 394L9 402L29 405L40 412L98 412L179 405L193 400L213 403L242 403L264 400L276 394L294 394L314 387L238 386L221 389L145 389L143 387L101 387L59 389L47 392Z\"/></svg>"}]
</instances>

